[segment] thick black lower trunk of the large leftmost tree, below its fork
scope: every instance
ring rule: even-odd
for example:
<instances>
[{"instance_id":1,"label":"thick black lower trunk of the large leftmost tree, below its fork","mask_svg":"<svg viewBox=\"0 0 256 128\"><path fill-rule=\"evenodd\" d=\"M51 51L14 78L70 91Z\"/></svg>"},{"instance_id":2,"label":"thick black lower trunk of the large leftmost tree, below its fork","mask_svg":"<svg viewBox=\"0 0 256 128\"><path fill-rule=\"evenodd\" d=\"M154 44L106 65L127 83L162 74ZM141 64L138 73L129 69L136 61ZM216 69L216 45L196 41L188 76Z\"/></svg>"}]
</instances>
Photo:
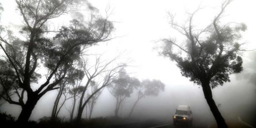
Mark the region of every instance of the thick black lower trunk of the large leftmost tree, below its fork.
<instances>
[{"instance_id":1,"label":"thick black lower trunk of the large leftmost tree, below its fork","mask_svg":"<svg viewBox=\"0 0 256 128\"><path fill-rule=\"evenodd\" d=\"M29 117L35 108L36 103L38 102L39 98L37 95L29 95L26 101L26 104L22 107L20 115L17 119L18 123L26 123L29 120Z\"/></svg>"}]
</instances>

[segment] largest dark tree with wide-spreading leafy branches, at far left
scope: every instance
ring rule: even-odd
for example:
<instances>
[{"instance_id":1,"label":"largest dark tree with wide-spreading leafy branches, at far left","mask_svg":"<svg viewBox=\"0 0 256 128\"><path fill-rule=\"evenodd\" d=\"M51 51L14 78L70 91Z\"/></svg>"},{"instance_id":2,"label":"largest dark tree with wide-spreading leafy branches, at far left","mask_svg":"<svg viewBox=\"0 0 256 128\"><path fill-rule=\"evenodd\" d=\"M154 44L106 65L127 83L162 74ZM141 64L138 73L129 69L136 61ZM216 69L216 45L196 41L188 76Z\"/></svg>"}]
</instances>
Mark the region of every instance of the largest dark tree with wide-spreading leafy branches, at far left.
<instances>
[{"instance_id":1,"label":"largest dark tree with wide-spreading leafy branches, at far left","mask_svg":"<svg viewBox=\"0 0 256 128\"><path fill-rule=\"evenodd\" d=\"M27 122L38 100L48 91L58 89L55 86L66 79L68 69L79 60L82 49L110 40L113 24L100 16L95 16L90 23L72 20L71 25L62 26L53 39L47 38L46 33L51 32L47 22L75 11L76 5L81 2L82 0L16 0L17 10L24 23L20 34L26 39L15 37L7 29L1 31L3 58L0 59L10 70L0 76L5 80L8 78L1 83L6 88L5 95L1 97L22 108L17 122ZM39 66L47 70L46 80L33 90L31 84L37 83L41 78L41 74L36 73ZM56 74L58 77L53 78ZM9 95L12 93L18 96L18 101ZM23 101L24 94L26 102Z\"/></svg>"}]
</instances>

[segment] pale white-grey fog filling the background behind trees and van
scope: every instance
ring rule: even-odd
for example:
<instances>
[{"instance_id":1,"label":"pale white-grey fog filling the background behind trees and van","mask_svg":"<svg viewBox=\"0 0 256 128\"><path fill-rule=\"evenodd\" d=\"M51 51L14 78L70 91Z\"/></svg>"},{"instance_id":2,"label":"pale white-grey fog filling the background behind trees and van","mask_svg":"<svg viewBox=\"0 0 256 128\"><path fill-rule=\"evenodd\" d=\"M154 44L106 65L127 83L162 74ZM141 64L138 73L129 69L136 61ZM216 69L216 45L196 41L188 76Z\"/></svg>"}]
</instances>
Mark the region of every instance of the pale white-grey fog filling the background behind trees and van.
<instances>
[{"instance_id":1,"label":"pale white-grey fog filling the background behind trees and van","mask_svg":"<svg viewBox=\"0 0 256 128\"><path fill-rule=\"evenodd\" d=\"M196 27L207 26L212 22L213 15L218 13L218 7L223 0L88 0L89 3L99 9L100 14L105 15L106 7L113 9L110 21L113 21L115 31L110 41L91 47L88 54L102 54L105 60L111 60L120 55L116 62L128 62L125 68L130 77L136 77L140 81L145 79L157 79L165 84L164 90L157 96L145 96L137 103L131 118L136 121L157 120L161 123L171 123L178 105L188 105L192 110L193 123L207 127L215 124L214 116L204 97L201 85L194 84L180 73L180 69L174 61L159 55L156 50L163 38L174 36L177 41L184 41L182 35L171 29L167 12L176 14L176 19L183 22L187 18L186 12L193 12L199 5L204 10L195 15ZM15 1L1 0L4 11L0 23L13 29L20 29L22 22L17 11ZM253 0L234 0L227 8L223 21L243 22L247 25L247 31L242 34L242 41L246 42L244 48L243 71L230 75L230 82L225 82L212 89L213 99L226 121L237 121L240 117L244 122L256 127L256 49L255 28L256 18L254 12L256 4ZM204 18L202 18L204 17ZM60 17L62 20L52 21L55 26L67 24L69 15ZM49 35L51 36L51 35ZM3 53L2 51L0 52ZM93 63L95 55L88 57ZM46 73L44 68L38 68L40 73ZM45 78L39 80L42 84ZM82 84L86 79L82 80ZM37 84L33 84L36 89ZM30 120L38 121L44 116L51 116L52 107L58 90L47 92L38 103L30 116ZM126 118L136 102L137 93L131 94L121 104L119 116ZM114 116L116 99L111 95L108 87L105 87L96 100L92 117ZM59 117L68 120L72 100L69 99L61 108ZM20 115L21 107L6 102L0 106L1 112L15 116ZM77 110L75 110L76 112ZM85 108L82 118L87 118L89 108Z\"/></svg>"}]
</instances>

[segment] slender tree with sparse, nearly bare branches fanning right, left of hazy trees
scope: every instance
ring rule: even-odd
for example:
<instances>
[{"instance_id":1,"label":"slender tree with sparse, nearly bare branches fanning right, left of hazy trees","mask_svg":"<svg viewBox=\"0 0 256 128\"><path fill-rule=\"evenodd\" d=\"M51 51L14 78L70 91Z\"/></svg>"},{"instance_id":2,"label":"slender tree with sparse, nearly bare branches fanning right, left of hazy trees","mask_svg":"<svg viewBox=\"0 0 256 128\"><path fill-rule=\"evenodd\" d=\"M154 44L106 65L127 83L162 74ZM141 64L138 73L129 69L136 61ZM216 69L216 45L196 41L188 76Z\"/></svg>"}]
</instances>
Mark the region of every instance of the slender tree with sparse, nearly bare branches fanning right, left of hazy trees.
<instances>
[{"instance_id":1,"label":"slender tree with sparse, nearly bare branches fanning right, left of hazy trees","mask_svg":"<svg viewBox=\"0 0 256 128\"><path fill-rule=\"evenodd\" d=\"M85 83L85 85L82 89L82 93L81 93L81 97L80 97L80 101L79 101L78 114L76 117L76 120L78 122L81 121L84 107L86 107L86 105L90 101L90 99L92 99L93 96L95 96L96 93L98 93L104 87L107 87L108 85L112 84L113 78L116 77L116 74L118 73L119 69L126 66L125 64L118 64L113 67L112 64L114 61L116 61L118 56L108 62L101 61L100 58L101 58L101 55L99 57L96 57L96 62L93 66L90 66L90 64L88 64L85 59L83 61L84 62L83 70L84 70L85 76L87 77L87 82ZM99 84L99 87L97 87L97 89L94 90L93 93L91 93L90 96L88 96L86 98L86 100L84 100L86 91L87 91L90 83L93 81L93 79L96 79L97 77L98 77L97 79L100 79L102 76L104 76L104 78L102 79L102 82Z\"/></svg>"}]
</instances>

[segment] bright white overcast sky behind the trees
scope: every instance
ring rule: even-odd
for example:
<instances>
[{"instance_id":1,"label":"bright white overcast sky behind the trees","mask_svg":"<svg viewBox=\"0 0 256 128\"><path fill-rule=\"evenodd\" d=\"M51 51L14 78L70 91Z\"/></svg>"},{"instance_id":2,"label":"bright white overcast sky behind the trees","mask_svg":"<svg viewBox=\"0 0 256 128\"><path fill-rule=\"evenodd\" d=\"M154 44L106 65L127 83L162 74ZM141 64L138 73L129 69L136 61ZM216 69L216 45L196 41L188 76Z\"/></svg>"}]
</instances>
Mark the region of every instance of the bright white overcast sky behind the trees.
<instances>
[{"instance_id":1,"label":"bright white overcast sky behind the trees","mask_svg":"<svg viewBox=\"0 0 256 128\"><path fill-rule=\"evenodd\" d=\"M19 15L15 11L14 0L0 0L0 2L4 8L1 24L14 28L19 27L21 18L17 20ZM181 43L184 41L184 37L169 25L168 12L176 15L177 22L183 23L188 17L187 12L193 12L200 5L203 9L195 15L193 23L198 28L204 28L212 22L214 16L219 12L222 0L89 0L89 2L98 8L103 16L105 15L105 8L108 6L113 10L109 20L114 22L115 32L113 32L112 37L116 37L93 47L89 52L104 53L105 58L114 58L122 53L122 60L131 61L129 63L131 66L127 68L131 76L140 80L159 79L166 84L164 93L160 93L157 97L143 99L134 111L145 111L144 114L148 116L158 114L160 118L169 118L177 105L187 104L191 106L193 111L198 111L198 114L207 113L208 117L212 118L201 87L181 76L175 62L158 55L154 48L159 45L163 38L173 37ZM256 48L255 5L255 0L234 0L227 7L222 19L223 23L232 21L243 22L247 25L247 31L243 33L242 41L247 43L244 47L249 50ZM66 22L65 20L58 20L58 25ZM255 72L255 68L251 68L256 61L256 59L253 60L253 54L255 54L253 51L244 52L244 71L241 74ZM255 101L255 87L255 84L253 85L248 78L232 75L231 82L213 89L212 93L215 102L221 104L220 111L222 109L229 110L225 112L230 116L230 113L250 106L251 102ZM52 98L54 96L56 96L56 92L52 91L40 99L31 119L37 120L42 116L49 116L51 106L47 108L45 105L54 102L54 98ZM133 98L128 99L124 110L128 110L133 101ZM99 97L93 116L113 114L114 103L113 97L108 93L108 90L105 90ZM17 116L20 111L19 107L15 105L4 105L3 107L10 106L13 109L8 112ZM63 115L65 113L64 109ZM236 113L236 116L239 114Z\"/></svg>"}]
</instances>

